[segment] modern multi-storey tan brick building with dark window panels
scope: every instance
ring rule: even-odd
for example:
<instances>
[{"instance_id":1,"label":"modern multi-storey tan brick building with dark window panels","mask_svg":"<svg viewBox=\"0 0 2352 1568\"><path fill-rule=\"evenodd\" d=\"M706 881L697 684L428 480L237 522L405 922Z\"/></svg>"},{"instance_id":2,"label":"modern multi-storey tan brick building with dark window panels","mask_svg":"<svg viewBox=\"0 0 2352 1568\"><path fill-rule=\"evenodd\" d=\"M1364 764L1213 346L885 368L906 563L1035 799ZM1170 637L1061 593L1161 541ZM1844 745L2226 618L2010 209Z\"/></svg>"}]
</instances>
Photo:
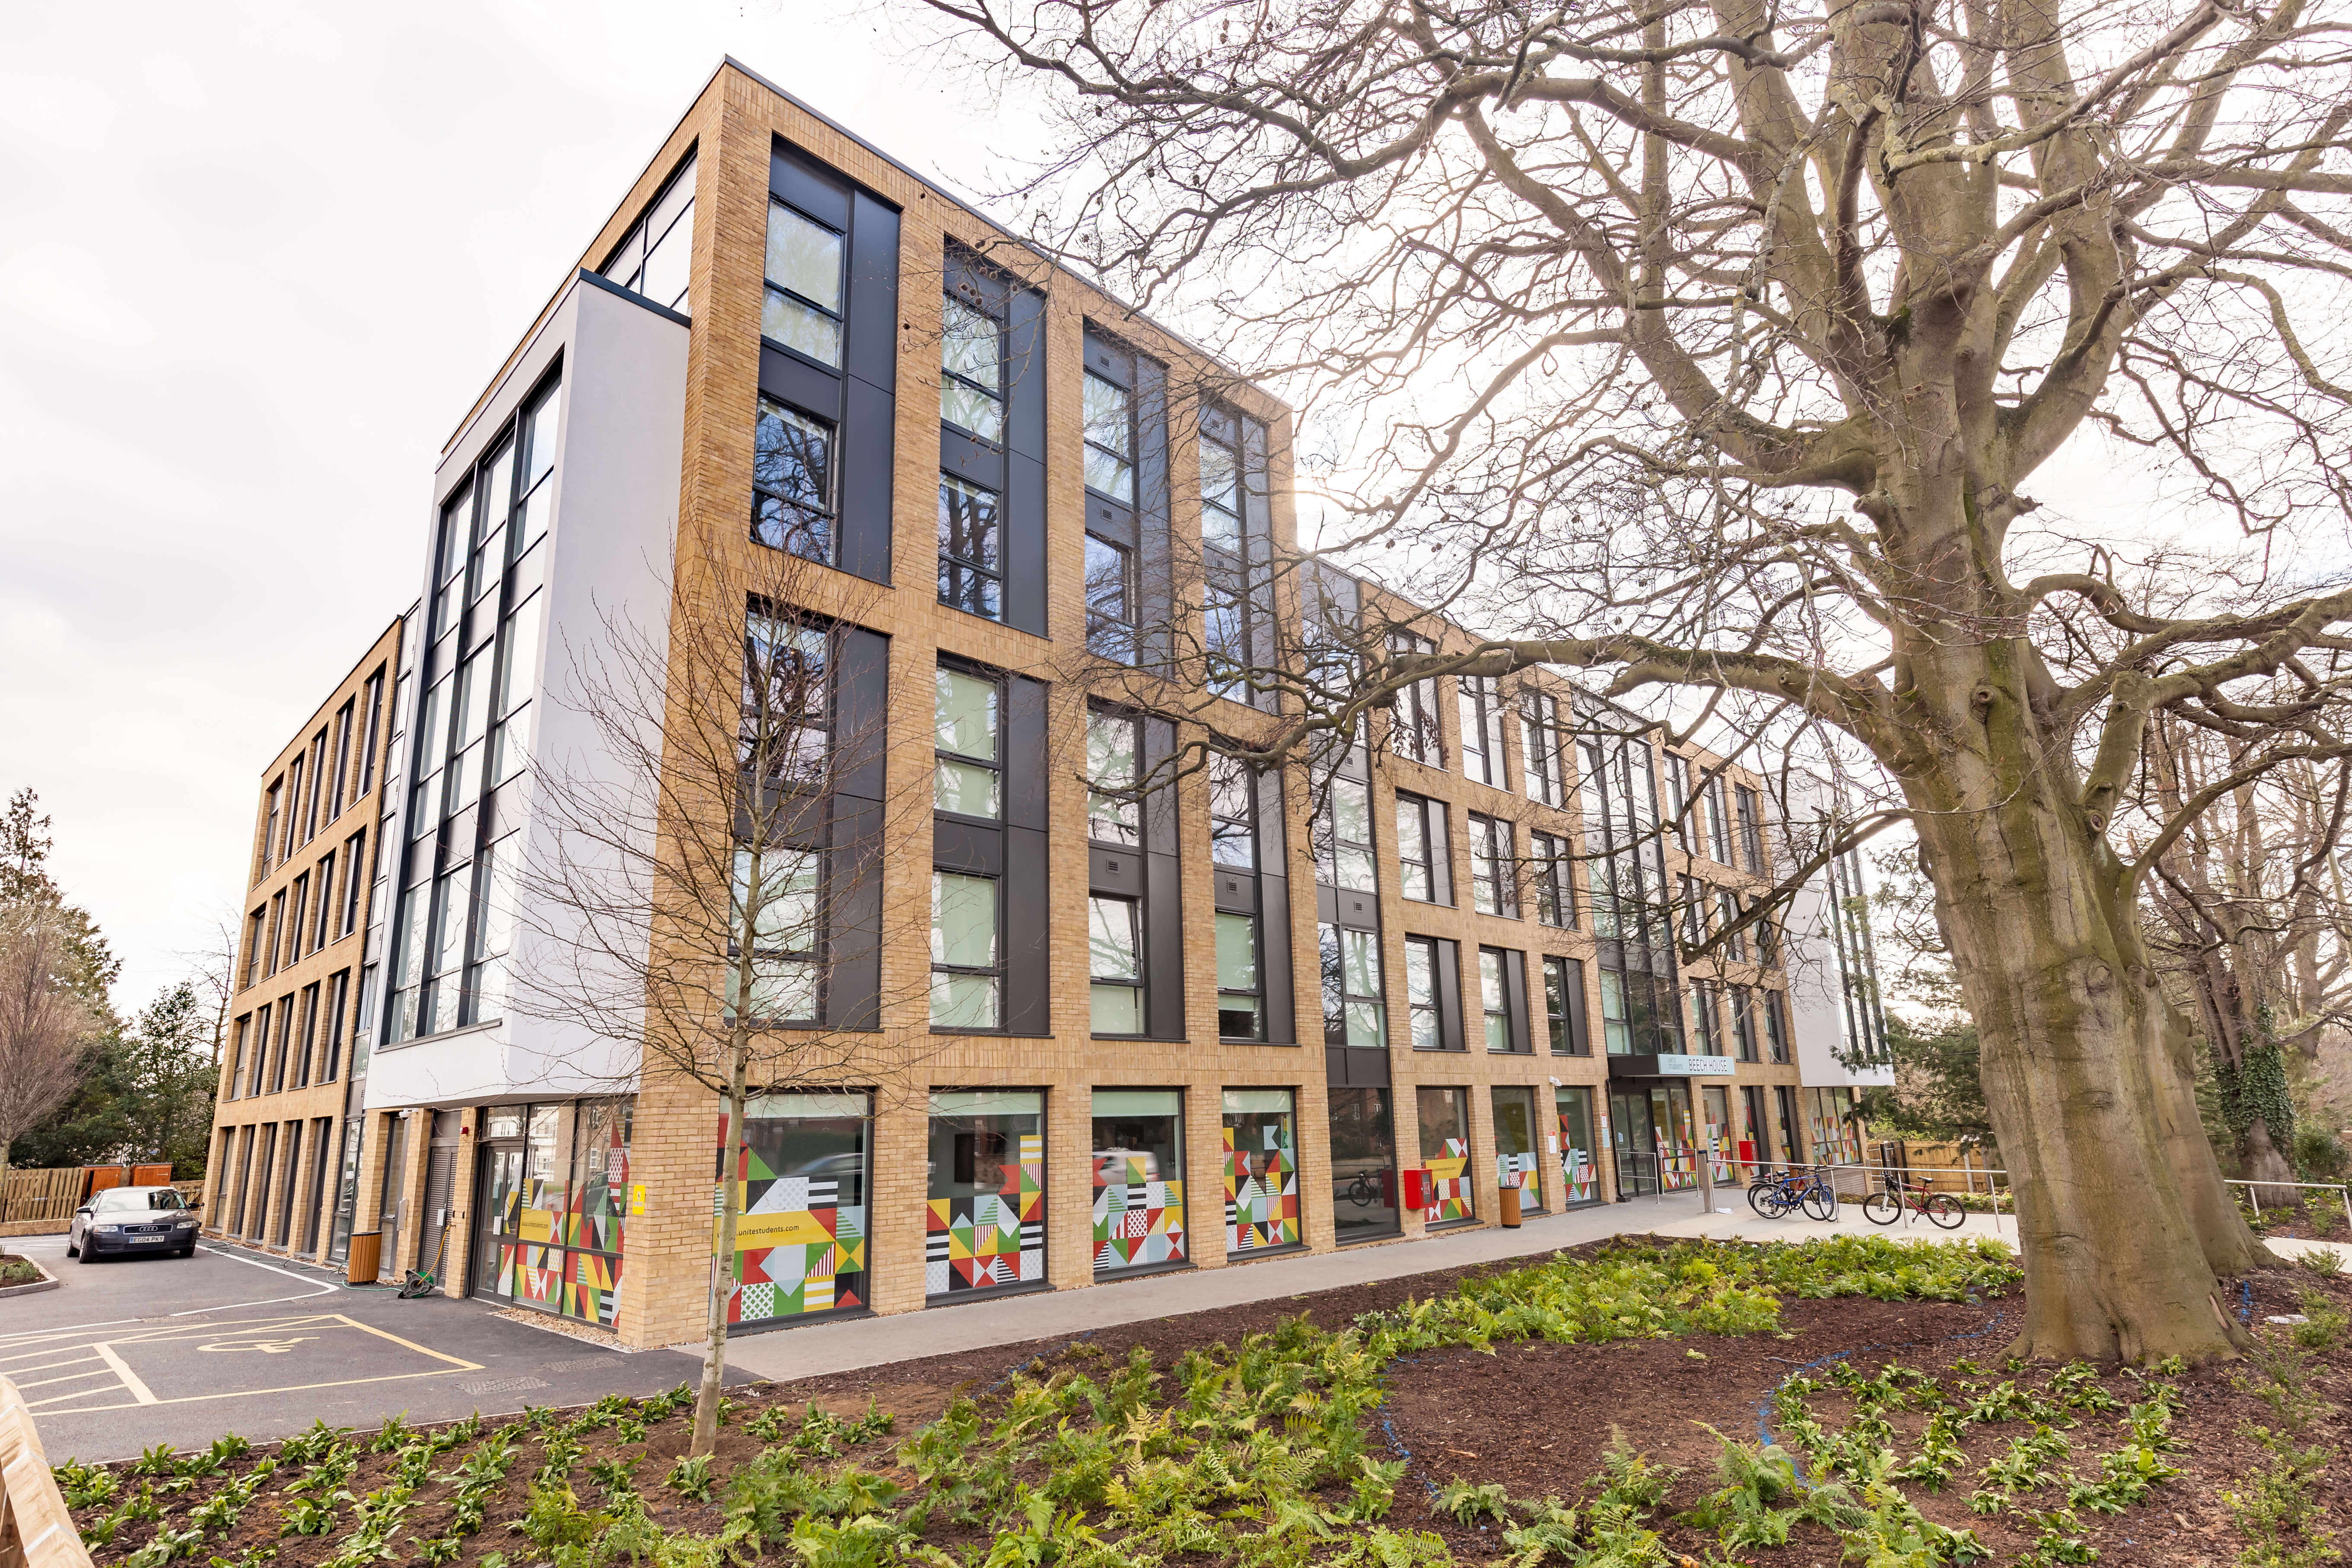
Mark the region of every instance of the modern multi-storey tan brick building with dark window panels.
<instances>
[{"instance_id":1,"label":"modern multi-storey tan brick building with dark window panels","mask_svg":"<svg viewBox=\"0 0 2352 1568\"><path fill-rule=\"evenodd\" d=\"M233 1067L207 1222L322 1258L381 1229L386 1274L440 1258L452 1293L699 1333L720 1100L524 1006L529 933L574 919L527 867L562 853L557 773L616 762L567 661L616 618L757 646L762 604L699 583L783 555L826 625L811 733L870 748L833 788L873 811L826 820L877 823L875 853L828 830L795 865L863 865L873 896L757 943L753 987L774 1030L922 1048L891 1081L755 1084L743 1328L1489 1225L1505 1185L1682 1187L1710 1131L1717 1159L1813 1157L1837 1095L1799 1074L1809 933L1677 957L1677 922L1771 886L1757 776L1541 675L1423 682L1312 771L1174 766L1282 722L1247 670L1303 639L1303 597L1465 646L1282 569L1289 437L1279 402L727 61L461 418L416 604L322 708L334 731L390 668L374 886L294 969L240 959L235 1030L285 1037L294 997L308 1037L315 987L332 1034L348 978L348 1048L308 1088L275 1046ZM301 875L263 853L252 952ZM659 898L644 922L675 931Z\"/></svg>"}]
</instances>

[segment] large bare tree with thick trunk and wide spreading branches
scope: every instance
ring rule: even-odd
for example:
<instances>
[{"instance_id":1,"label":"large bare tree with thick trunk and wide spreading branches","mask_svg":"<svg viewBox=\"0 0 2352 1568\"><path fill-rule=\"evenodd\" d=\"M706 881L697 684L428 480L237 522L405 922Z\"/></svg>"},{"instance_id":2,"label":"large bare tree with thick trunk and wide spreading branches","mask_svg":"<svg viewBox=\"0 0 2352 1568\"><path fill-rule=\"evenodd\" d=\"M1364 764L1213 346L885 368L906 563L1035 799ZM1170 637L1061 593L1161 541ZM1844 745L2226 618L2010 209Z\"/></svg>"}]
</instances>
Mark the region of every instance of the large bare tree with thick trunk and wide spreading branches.
<instances>
[{"instance_id":1,"label":"large bare tree with thick trunk and wide spreading branches","mask_svg":"<svg viewBox=\"0 0 2352 1568\"><path fill-rule=\"evenodd\" d=\"M929 0L1058 146L1035 242L1303 409L1322 548L1503 635L1287 691L1606 672L1875 764L1983 1041L2042 1356L2211 1359L2260 1248L2112 835L2159 715L2345 745L2352 52L2305 0ZM993 82L993 85L1002 85ZM2129 454L2105 527L2030 489ZM2173 489L2164 489L2173 484ZM2258 536L2161 602L2152 503ZM2298 545L2305 550L2298 552ZM2244 701L2272 677L2286 705Z\"/></svg>"}]
</instances>

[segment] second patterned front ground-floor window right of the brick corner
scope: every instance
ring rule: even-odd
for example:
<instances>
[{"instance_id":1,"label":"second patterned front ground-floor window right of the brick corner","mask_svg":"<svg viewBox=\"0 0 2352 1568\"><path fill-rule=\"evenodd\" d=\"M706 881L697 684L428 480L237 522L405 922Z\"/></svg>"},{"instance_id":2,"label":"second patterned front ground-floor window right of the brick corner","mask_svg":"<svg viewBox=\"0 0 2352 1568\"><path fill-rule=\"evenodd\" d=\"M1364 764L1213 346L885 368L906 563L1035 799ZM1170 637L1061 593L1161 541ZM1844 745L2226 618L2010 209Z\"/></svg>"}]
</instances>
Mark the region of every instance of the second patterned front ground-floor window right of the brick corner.
<instances>
[{"instance_id":1,"label":"second patterned front ground-floor window right of the brick corner","mask_svg":"<svg viewBox=\"0 0 2352 1568\"><path fill-rule=\"evenodd\" d=\"M927 1295L1044 1281L1044 1095L1018 1088L931 1095Z\"/></svg>"}]
</instances>

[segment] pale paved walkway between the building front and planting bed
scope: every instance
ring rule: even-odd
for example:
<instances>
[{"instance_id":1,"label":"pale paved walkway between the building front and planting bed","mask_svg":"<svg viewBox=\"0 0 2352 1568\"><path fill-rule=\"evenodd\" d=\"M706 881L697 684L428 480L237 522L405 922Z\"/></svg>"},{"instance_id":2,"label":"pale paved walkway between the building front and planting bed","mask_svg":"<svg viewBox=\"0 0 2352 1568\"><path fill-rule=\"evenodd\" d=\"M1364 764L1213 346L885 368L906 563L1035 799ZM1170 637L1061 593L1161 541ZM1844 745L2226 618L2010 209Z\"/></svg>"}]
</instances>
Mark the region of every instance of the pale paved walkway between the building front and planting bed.
<instances>
[{"instance_id":1,"label":"pale paved walkway between the building front and planting bed","mask_svg":"<svg viewBox=\"0 0 2352 1568\"><path fill-rule=\"evenodd\" d=\"M1698 1201L1696 1192L1675 1192L1663 1199L1635 1199L1630 1204L1602 1204L1559 1215L1536 1215L1519 1229L1458 1229L1421 1241L1350 1246L1336 1253L1294 1253L1261 1262L1232 1262L1218 1269L1152 1274L1080 1291L1040 1291L1035 1295L976 1300L924 1312L779 1328L729 1340L727 1361L729 1368L741 1368L757 1378L821 1378L863 1366L910 1361L915 1356L946 1356L990 1345L1018 1345L1023 1340L1075 1335L1117 1324L1145 1324L1150 1319L1237 1307L1282 1295L1336 1291L1376 1279L1406 1279L1411 1274L1461 1269L1503 1258L1526 1258L1628 1232L1743 1237L1750 1241L1790 1241L1823 1232L1940 1239L2002 1234L2011 1244L2016 1237L2013 1220L1999 1220L1999 1232L1994 1232L1994 1222L1987 1215L1969 1215L1959 1229L1950 1232L1912 1218L1905 1218L1903 1225L1879 1227L1863 1218L1858 1204L1839 1204L1837 1218L1828 1222L1802 1215L1764 1220L1748 1208L1743 1187L1717 1192L1715 1201L1722 1213L1715 1215L1700 1213ZM694 1347L680 1345L677 1349Z\"/></svg>"}]
</instances>

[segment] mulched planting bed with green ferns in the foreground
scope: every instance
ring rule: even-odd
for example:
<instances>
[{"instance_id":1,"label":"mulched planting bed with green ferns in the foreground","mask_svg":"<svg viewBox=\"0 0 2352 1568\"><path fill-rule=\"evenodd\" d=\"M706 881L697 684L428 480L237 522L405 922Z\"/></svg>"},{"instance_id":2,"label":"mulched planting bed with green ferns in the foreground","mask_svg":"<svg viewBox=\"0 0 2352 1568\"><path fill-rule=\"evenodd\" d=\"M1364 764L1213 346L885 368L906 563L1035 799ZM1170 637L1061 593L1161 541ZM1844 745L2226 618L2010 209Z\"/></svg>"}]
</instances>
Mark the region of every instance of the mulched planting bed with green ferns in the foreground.
<instances>
[{"instance_id":1,"label":"mulched planting bed with green ferns in the foreground","mask_svg":"<svg viewBox=\"0 0 2352 1568\"><path fill-rule=\"evenodd\" d=\"M134 1568L2319 1563L2352 1286L2237 1300L2246 1368L2025 1366L1999 1248L1618 1239L760 1385L708 1465L680 1389L59 1479Z\"/></svg>"}]
</instances>

